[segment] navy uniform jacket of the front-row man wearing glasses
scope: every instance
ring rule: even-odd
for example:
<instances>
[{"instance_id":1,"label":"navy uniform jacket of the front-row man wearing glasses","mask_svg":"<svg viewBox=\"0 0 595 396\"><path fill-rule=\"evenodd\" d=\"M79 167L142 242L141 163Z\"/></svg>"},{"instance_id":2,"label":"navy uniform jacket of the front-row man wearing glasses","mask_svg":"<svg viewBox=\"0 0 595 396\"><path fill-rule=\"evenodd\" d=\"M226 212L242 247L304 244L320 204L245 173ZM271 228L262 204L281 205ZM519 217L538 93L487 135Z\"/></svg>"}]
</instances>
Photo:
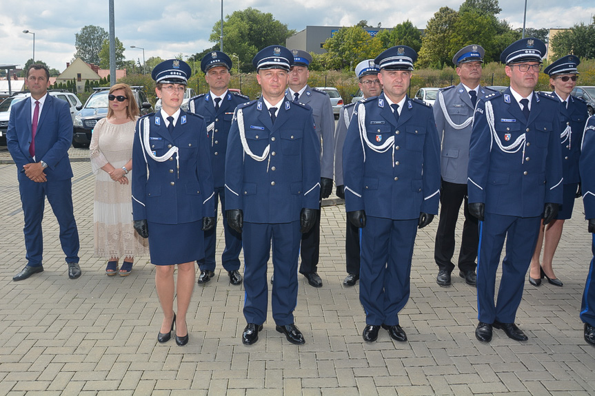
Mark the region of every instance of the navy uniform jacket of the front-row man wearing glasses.
<instances>
[{"instance_id":1,"label":"navy uniform jacket of the front-row man wearing glasses","mask_svg":"<svg viewBox=\"0 0 595 396\"><path fill-rule=\"evenodd\" d=\"M491 109L491 110L490 110ZM533 93L529 120L510 92L478 99L470 141L469 202L505 216L536 217L562 203L559 101Z\"/></svg>"}]
</instances>

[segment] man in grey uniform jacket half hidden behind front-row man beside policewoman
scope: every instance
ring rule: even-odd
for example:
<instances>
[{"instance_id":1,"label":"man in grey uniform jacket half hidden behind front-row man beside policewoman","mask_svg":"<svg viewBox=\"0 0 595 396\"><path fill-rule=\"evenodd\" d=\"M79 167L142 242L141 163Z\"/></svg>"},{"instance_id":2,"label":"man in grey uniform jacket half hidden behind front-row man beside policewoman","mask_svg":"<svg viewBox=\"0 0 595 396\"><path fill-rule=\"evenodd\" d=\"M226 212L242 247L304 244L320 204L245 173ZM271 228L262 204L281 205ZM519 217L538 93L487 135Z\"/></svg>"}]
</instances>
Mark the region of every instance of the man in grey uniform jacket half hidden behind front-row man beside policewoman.
<instances>
[{"instance_id":1,"label":"man in grey uniform jacket half hidden behind front-row man beside policewoman","mask_svg":"<svg viewBox=\"0 0 595 396\"><path fill-rule=\"evenodd\" d=\"M316 90L307 85L310 77L308 65L312 56L303 50L292 50L294 64L290 70L288 90L285 92L288 100L305 103L312 107L316 134L321 142L321 178L320 199L328 198L332 193L332 174L334 160L334 116L332 104L326 92ZM314 287L321 287L322 280L316 273L316 266L320 256L320 211L316 212L316 224L310 232L304 233L301 242L300 273L307 278L307 282Z\"/></svg>"}]
</instances>

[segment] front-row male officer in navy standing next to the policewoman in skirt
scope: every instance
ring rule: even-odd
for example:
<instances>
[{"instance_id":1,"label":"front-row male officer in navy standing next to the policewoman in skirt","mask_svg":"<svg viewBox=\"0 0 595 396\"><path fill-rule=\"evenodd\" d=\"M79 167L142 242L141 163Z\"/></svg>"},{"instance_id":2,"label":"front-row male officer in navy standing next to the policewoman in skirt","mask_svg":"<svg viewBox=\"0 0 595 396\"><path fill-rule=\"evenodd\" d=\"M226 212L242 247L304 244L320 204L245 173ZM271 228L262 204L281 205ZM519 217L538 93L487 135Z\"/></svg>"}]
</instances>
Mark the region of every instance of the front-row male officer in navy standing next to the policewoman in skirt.
<instances>
[{"instance_id":1,"label":"front-row male officer in navy standing next to the policewoman in skirt","mask_svg":"<svg viewBox=\"0 0 595 396\"><path fill-rule=\"evenodd\" d=\"M319 210L320 143L310 107L285 98L290 50L271 45L252 63L263 94L236 107L225 160L225 214L230 227L243 231L243 313L248 324L242 342L254 344L267 318L272 242L276 331L293 344L304 344L293 311L301 233L312 228Z\"/></svg>"}]
</instances>

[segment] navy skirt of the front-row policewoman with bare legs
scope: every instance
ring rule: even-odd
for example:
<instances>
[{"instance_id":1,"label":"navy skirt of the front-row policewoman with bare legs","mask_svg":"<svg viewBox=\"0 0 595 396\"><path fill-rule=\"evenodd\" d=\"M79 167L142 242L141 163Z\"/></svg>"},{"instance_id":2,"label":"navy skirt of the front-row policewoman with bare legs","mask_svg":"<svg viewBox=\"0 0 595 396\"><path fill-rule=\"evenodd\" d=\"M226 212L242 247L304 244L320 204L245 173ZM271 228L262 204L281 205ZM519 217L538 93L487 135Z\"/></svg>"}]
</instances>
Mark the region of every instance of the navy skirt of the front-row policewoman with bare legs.
<instances>
[{"instance_id":1,"label":"navy skirt of the front-row policewoman with bare legs","mask_svg":"<svg viewBox=\"0 0 595 396\"><path fill-rule=\"evenodd\" d=\"M205 256L202 221L181 224L148 222L149 253L155 265L173 265Z\"/></svg>"}]
</instances>

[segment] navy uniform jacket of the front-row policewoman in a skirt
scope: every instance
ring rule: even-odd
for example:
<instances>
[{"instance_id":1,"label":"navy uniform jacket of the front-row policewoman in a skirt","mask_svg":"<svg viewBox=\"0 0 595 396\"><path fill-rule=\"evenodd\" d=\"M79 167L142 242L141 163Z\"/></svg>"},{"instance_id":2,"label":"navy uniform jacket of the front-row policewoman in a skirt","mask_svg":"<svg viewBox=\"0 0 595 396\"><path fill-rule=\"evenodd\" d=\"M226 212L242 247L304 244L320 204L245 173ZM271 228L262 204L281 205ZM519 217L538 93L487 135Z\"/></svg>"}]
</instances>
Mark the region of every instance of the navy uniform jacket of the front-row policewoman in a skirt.
<instances>
[{"instance_id":1,"label":"navy uniform jacket of the front-row policewoman in a skirt","mask_svg":"<svg viewBox=\"0 0 595 396\"><path fill-rule=\"evenodd\" d=\"M149 155L161 157L172 147L179 152L163 162ZM175 225L215 216L209 147L201 116L181 110L172 134L161 112L139 118L132 146L134 220Z\"/></svg>"}]
</instances>

